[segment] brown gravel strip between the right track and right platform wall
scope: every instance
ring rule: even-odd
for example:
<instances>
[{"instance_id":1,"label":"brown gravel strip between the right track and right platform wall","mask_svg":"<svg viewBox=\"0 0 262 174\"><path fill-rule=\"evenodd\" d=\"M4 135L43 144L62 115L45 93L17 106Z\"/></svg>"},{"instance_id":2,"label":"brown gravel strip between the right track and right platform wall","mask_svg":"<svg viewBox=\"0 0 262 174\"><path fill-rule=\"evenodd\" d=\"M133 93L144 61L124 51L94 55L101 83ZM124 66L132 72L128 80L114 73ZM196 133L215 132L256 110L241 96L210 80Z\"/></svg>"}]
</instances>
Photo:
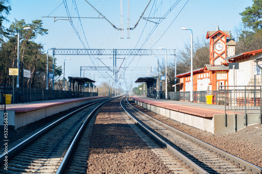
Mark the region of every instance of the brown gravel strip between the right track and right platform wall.
<instances>
[{"instance_id":1,"label":"brown gravel strip between the right track and right platform wall","mask_svg":"<svg viewBox=\"0 0 262 174\"><path fill-rule=\"evenodd\" d=\"M166 123L182 132L209 143L232 155L235 155L256 166L262 167L262 125L247 126L237 132L228 134L212 134L185 124L181 124L163 115L149 111L135 104L132 99L129 102L140 111Z\"/></svg>"}]
</instances>

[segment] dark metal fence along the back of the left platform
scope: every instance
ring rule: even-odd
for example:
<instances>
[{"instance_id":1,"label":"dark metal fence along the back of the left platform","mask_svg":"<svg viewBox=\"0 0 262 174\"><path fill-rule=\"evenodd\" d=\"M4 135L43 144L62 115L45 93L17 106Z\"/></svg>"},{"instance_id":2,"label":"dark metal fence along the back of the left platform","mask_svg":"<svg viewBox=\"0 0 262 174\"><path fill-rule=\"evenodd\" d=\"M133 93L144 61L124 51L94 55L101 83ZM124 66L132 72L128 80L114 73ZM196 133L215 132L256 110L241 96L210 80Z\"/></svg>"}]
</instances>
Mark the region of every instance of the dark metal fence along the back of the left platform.
<instances>
[{"instance_id":1,"label":"dark metal fence along the back of the left platform","mask_svg":"<svg viewBox=\"0 0 262 174\"><path fill-rule=\"evenodd\" d=\"M4 94L4 87L0 86L0 101L2 104L4 104L3 102L5 101ZM26 88L24 90L23 88L8 88L6 89L6 94L12 95L11 103L98 96L97 93L93 92L82 92L80 94L76 94L72 91L72 95L70 96L69 91L49 89L31 89L30 91Z\"/></svg>"}]
</instances>

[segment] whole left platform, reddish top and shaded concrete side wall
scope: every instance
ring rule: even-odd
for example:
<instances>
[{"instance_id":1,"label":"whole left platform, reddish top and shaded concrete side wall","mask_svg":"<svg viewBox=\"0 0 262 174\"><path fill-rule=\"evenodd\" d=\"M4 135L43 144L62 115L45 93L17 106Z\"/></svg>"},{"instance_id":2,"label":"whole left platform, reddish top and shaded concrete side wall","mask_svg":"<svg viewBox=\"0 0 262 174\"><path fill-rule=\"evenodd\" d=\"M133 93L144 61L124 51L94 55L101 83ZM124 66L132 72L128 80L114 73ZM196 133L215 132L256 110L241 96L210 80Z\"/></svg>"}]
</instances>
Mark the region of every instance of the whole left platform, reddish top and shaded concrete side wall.
<instances>
[{"instance_id":1,"label":"whole left platform, reddish top and shaded concrete side wall","mask_svg":"<svg viewBox=\"0 0 262 174\"><path fill-rule=\"evenodd\" d=\"M8 127L10 129L17 129L21 126L25 126L26 124L35 122L58 112L68 110L69 108L107 98L108 96L95 96L9 104L6 105L6 112L8 113ZM2 123L4 122L4 109L0 109L0 115L2 115L2 117L0 117L0 123L1 127L3 127Z\"/></svg>"}]
</instances>

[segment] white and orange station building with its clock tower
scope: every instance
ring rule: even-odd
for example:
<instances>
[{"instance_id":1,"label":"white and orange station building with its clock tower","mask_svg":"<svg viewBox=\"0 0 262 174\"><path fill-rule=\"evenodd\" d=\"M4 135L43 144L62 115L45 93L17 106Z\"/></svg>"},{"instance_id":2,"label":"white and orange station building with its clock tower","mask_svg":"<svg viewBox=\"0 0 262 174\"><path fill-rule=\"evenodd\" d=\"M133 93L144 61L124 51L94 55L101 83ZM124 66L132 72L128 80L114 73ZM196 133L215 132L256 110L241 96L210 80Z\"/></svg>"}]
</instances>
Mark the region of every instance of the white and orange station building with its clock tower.
<instances>
[{"instance_id":1,"label":"white and orange station building with its clock tower","mask_svg":"<svg viewBox=\"0 0 262 174\"><path fill-rule=\"evenodd\" d=\"M236 42L229 37L229 32L221 31L218 26L216 31L207 32L210 64L193 70L193 91L214 91L219 90L219 86L233 86L233 69L229 69L228 63L239 63L239 69L235 69L235 85L261 86L258 66L262 64L262 49L235 55ZM190 91L190 75L191 72L176 75L180 78L179 91Z\"/></svg>"}]
</instances>

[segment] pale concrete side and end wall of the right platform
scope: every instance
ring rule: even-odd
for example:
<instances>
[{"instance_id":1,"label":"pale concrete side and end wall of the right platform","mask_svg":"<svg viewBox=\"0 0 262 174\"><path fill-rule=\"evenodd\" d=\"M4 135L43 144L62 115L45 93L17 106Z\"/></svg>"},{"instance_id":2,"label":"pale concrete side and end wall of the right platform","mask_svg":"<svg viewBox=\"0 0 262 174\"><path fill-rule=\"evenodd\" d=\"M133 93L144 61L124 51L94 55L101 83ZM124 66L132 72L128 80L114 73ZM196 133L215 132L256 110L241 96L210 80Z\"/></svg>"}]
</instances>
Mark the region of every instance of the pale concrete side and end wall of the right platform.
<instances>
[{"instance_id":1,"label":"pale concrete side and end wall of the right platform","mask_svg":"<svg viewBox=\"0 0 262 174\"><path fill-rule=\"evenodd\" d=\"M246 127L245 114L236 114L236 119L233 114L227 114L227 127L225 126L225 114L214 114L214 117L200 117L190 115L170 109L150 105L132 99L136 104L150 110L171 118L179 123L187 124L189 126L206 130L213 134L226 134L234 132ZM260 114L247 114L247 125L260 124Z\"/></svg>"}]
</instances>

